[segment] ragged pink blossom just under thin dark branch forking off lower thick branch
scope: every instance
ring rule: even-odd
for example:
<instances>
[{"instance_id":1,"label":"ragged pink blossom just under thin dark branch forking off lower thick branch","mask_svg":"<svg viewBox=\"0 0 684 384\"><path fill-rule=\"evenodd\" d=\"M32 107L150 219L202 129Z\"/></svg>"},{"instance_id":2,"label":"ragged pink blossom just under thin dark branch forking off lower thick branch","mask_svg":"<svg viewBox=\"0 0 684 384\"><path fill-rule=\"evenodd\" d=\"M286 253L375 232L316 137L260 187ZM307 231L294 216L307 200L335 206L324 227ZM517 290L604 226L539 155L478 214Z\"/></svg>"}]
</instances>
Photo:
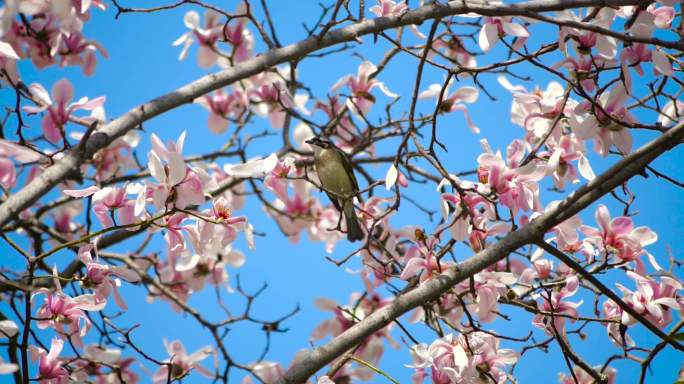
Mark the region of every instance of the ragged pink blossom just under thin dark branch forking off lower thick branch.
<instances>
[{"instance_id":1,"label":"ragged pink blossom just under thin dark branch forking off lower thick branch","mask_svg":"<svg viewBox=\"0 0 684 384\"><path fill-rule=\"evenodd\" d=\"M545 330L549 335L555 335L558 332L559 335L565 332L565 320L570 320L574 323L579 316L577 308L582 305L583 300L579 302L567 301L566 299L577 293L579 288L579 280L577 276L571 275L565 279L565 285L559 291L552 292L541 292L536 295L542 301L538 304L540 310L553 314L562 314L570 316L568 319L564 316L547 316L543 314L537 314L532 319L532 324ZM553 322L553 323L552 323Z\"/></svg>"}]
</instances>

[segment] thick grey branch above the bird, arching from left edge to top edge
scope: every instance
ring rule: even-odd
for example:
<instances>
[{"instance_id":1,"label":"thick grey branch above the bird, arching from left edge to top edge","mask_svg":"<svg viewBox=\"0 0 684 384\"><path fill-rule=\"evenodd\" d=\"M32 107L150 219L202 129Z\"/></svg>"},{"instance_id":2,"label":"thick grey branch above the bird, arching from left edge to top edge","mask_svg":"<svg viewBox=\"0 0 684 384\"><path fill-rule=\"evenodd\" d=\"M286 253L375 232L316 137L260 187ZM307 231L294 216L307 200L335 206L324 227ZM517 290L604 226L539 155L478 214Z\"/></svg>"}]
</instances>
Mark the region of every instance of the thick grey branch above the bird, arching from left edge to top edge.
<instances>
[{"instance_id":1,"label":"thick grey branch above the bird, arching from left edge to top edge","mask_svg":"<svg viewBox=\"0 0 684 384\"><path fill-rule=\"evenodd\" d=\"M487 1L462 0L447 4L431 4L408 11L400 16L380 17L363 20L327 32L324 36L313 36L283 48L276 48L240 65L221 72L204 76L175 91L139 105L119 118L98 127L96 133L70 150L62 159L45 169L30 184L12 194L0 205L0 227L6 225L19 212L30 207L43 195L69 177L77 176L80 166L98 150L105 148L114 139L140 127L151 118L191 103L211 91L228 86L267 68L305 57L320 49L356 41L360 36L377 34L387 29L421 24L430 19L477 13L484 16L534 16L539 12L560 11L583 7L604 7L635 5L639 0L533 0L520 4L490 4Z\"/></svg>"}]
</instances>

